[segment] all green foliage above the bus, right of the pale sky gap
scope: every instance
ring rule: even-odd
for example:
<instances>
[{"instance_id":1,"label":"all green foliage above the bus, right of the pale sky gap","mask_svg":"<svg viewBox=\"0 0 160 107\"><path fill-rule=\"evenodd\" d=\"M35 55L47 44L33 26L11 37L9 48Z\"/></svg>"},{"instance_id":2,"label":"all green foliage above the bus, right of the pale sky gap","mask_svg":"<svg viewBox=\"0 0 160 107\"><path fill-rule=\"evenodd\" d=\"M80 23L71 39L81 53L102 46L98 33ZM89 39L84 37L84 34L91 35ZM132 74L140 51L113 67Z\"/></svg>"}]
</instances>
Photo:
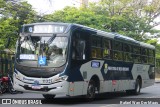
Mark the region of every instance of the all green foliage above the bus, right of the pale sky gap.
<instances>
[{"instance_id":1,"label":"all green foliage above the bus, right of the pale sky gap","mask_svg":"<svg viewBox=\"0 0 160 107\"><path fill-rule=\"evenodd\" d=\"M154 19L160 14L159 7L159 0L101 0L88 7L66 7L44 16L43 21L78 23L147 41L156 46L158 57L160 47L157 41L148 41L145 35L159 32L152 29L156 25Z\"/></svg>"}]
</instances>

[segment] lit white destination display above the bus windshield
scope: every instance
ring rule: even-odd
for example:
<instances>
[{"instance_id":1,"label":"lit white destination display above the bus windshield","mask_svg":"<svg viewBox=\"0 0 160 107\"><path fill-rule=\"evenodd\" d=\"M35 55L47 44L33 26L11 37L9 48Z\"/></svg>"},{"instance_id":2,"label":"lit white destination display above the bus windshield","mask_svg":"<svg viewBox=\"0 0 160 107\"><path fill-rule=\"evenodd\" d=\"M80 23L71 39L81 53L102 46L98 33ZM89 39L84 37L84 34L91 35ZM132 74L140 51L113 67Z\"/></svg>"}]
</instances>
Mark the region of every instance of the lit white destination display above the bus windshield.
<instances>
[{"instance_id":1,"label":"lit white destination display above the bus windshield","mask_svg":"<svg viewBox=\"0 0 160 107\"><path fill-rule=\"evenodd\" d=\"M31 25L24 26L24 33L64 33L63 25Z\"/></svg>"}]
</instances>

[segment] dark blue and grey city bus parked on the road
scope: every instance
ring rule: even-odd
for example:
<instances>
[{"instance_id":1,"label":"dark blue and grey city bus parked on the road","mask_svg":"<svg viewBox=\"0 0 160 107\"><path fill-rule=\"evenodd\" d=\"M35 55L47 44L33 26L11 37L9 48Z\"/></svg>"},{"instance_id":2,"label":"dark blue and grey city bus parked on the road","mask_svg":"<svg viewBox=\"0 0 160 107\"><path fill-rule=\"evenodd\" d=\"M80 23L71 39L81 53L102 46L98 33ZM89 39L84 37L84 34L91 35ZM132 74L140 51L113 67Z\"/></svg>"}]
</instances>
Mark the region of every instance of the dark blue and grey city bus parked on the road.
<instances>
[{"instance_id":1,"label":"dark blue and grey city bus parked on the road","mask_svg":"<svg viewBox=\"0 0 160 107\"><path fill-rule=\"evenodd\" d=\"M74 23L25 24L16 42L13 86L18 91L85 96L138 95L155 82L155 47Z\"/></svg>"}]
</instances>

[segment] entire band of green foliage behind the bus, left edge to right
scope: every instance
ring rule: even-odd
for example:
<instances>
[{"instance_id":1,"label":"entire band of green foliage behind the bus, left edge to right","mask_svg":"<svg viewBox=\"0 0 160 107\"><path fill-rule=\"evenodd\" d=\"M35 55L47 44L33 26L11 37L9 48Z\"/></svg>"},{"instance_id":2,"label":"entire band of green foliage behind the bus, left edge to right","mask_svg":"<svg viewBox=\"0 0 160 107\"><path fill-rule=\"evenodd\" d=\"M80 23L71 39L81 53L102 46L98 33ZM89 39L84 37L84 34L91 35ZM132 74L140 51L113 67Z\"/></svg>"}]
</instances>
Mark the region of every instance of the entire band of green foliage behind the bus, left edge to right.
<instances>
[{"instance_id":1,"label":"entire band of green foliage behind the bus, left edge to right","mask_svg":"<svg viewBox=\"0 0 160 107\"><path fill-rule=\"evenodd\" d=\"M88 7L66 7L53 14L39 17L27 2L0 0L0 49L4 48L8 36L12 38L11 47L14 47L17 39L15 32L20 30L21 25L53 21L82 24L99 30L118 32L139 41L147 41L156 46L158 56L159 45L155 41L148 41L145 33L159 33L152 29L158 25L154 19L160 14L159 7L159 0L100 0L99 3L90 3Z\"/></svg>"}]
</instances>

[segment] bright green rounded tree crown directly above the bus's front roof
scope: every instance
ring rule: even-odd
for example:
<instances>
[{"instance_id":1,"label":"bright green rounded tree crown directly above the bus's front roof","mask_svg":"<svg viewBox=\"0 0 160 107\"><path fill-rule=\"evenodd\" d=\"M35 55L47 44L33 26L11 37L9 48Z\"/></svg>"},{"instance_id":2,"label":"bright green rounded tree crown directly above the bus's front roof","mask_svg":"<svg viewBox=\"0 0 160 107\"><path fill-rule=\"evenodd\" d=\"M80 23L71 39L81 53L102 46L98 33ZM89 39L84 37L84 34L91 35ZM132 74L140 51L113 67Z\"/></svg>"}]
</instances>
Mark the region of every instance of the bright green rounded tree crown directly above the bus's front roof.
<instances>
[{"instance_id":1,"label":"bright green rounded tree crown directly above the bus's front roof","mask_svg":"<svg viewBox=\"0 0 160 107\"><path fill-rule=\"evenodd\" d=\"M97 29L104 29L102 22L105 20L107 20L105 17L96 15L95 12L87 8L78 9L75 7L66 7L43 17L43 21L77 23Z\"/></svg>"}]
</instances>

